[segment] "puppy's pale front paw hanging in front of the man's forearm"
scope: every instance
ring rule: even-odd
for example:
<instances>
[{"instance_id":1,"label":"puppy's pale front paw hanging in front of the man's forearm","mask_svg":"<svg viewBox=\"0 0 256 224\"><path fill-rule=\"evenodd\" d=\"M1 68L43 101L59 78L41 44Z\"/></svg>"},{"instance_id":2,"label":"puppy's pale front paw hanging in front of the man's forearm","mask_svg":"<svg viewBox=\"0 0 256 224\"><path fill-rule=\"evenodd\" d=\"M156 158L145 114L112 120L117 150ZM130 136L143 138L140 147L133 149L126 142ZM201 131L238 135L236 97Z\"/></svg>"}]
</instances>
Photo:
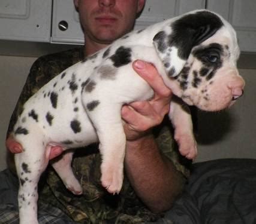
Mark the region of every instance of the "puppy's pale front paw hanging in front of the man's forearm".
<instances>
[{"instance_id":1,"label":"puppy's pale front paw hanging in front of the man's forearm","mask_svg":"<svg viewBox=\"0 0 256 224\"><path fill-rule=\"evenodd\" d=\"M110 194L119 194L124 179L122 167L114 165L101 165L101 185Z\"/></svg>"}]
</instances>

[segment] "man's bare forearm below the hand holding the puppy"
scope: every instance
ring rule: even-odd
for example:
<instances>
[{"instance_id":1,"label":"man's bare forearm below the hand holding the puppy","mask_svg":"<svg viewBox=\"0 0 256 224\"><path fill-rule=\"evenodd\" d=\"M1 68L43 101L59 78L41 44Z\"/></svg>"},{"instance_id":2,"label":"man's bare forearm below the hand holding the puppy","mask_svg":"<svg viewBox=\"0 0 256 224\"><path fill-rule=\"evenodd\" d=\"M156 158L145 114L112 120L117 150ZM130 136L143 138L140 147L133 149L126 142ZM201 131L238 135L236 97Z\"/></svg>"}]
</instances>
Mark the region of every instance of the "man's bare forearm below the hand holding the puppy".
<instances>
[{"instance_id":1,"label":"man's bare forearm below the hand holding the puppy","mask_svg":"<svg viewBox=\"0 0 256 224\"><path fill-rule=\"evenodd\" d=\"M185 182L152 135L127 141L125 170L138 197L155 212L168 210Z\"/></svg>"}]
</instances>

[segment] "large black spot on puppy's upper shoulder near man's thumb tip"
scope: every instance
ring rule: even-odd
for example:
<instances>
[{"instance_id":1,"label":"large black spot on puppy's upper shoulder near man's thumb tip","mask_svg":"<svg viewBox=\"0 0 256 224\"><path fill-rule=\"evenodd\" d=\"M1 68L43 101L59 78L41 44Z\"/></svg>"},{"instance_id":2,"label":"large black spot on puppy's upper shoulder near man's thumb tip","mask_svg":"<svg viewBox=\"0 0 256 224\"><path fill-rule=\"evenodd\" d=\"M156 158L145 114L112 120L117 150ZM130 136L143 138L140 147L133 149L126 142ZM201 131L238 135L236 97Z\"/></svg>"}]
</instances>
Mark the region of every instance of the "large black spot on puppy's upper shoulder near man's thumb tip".
<instances>
[{"instance_id":1,"label":"large black spot on puppy's upper shoulder near man's thumb tip","mask_svg":"<svg viewBox=\"0 0 256 224\"><path fill-rule=\"evenodd\" d=\"M110 59L115 67L127 65L131 62L131 48L119 47Z\"/></svg>"}]
</instances>

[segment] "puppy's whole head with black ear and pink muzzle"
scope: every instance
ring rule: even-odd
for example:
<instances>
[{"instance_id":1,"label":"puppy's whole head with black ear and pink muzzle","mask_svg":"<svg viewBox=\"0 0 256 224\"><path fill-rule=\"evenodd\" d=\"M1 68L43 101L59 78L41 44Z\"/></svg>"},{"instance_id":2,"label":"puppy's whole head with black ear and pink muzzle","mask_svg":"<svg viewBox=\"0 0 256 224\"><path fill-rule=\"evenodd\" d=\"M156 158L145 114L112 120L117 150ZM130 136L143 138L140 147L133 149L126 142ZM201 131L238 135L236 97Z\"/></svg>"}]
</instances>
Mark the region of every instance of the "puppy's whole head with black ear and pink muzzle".
<instances>
[{"instance_id":1,"label":"puppy's whole head with black ear and pink muzzle","mask_svg":"<svg viewBox=\"0 0 256 224\"><path fill-rule=\"evenodd\" d=\"M155 35L165 84L188 105L219 111L242 95L236 32L222 17L198 10L174 19Z\"/></svg>"}]
</instances>

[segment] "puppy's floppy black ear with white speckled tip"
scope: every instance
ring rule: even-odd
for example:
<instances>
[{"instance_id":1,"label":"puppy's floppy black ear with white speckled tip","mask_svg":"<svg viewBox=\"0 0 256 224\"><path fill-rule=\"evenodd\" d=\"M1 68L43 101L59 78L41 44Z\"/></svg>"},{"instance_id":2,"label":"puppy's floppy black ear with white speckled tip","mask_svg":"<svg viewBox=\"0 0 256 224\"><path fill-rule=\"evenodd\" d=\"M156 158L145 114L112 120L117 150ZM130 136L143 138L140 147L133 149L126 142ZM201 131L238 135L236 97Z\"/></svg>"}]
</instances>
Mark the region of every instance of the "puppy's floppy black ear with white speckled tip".
<instances>
[{"instance_id":1,"label":"puppy's floppy black ear with white speckled tip","mask_svg":"<svg viewBox=\"0 0 256 224\"><path fill-rule=\"evenodd\" d=\"M178 17L170 26L156 33L153 44L168 76L179 75L192 48L212 36L222 26L223 23L216 14L200 10Z\"/></svg>"}]
</instances>

